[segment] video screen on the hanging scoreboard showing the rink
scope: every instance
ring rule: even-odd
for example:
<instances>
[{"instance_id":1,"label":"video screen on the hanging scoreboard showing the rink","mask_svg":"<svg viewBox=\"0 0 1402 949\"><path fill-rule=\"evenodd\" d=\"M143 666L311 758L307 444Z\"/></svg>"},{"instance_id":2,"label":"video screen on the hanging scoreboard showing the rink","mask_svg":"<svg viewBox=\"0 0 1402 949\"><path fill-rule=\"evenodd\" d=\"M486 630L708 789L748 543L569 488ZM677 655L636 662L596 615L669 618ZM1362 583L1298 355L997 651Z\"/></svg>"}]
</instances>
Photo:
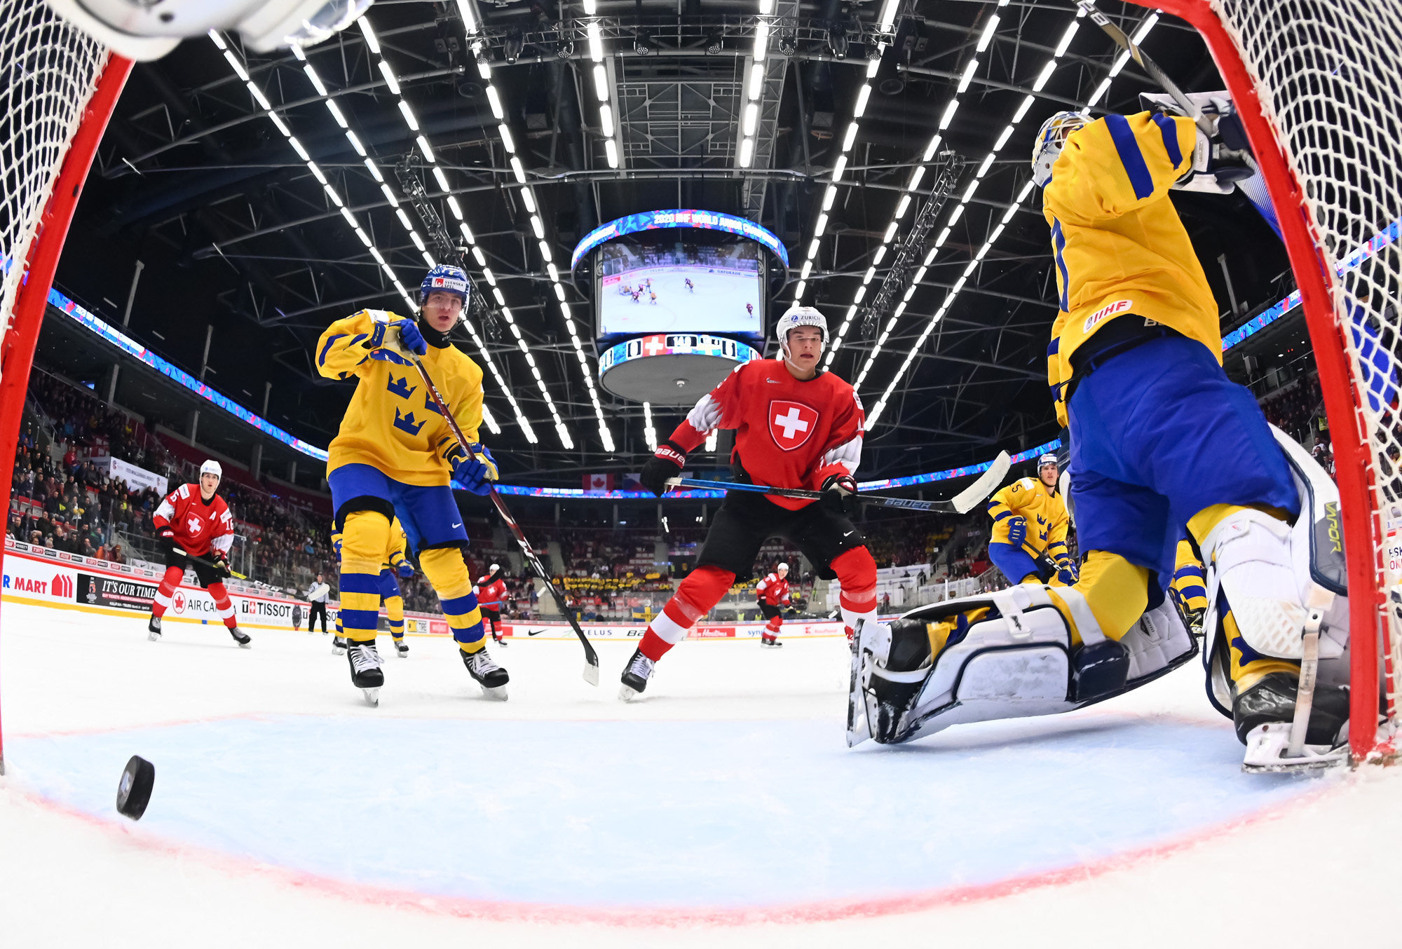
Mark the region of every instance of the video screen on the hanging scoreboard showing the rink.
<instances>
[{"instance_id":1,"label":"video screen on the hanging scoreboard showing the rink","mask_svg":"<svg viewBox=\"0 0 1402 949\"><path fill-rule=\"evenodd\" d=\"M638 301L634 289L652 280L658 301L645 287ZM695 290L687 289L687 280ZM629 332L758 332L761 322L758 279L754 273L705 266L656 266L628 271L617 283L603 287L600 335ZM751 304L750 314L744 304Z\"/></svg>"}]
</instances>

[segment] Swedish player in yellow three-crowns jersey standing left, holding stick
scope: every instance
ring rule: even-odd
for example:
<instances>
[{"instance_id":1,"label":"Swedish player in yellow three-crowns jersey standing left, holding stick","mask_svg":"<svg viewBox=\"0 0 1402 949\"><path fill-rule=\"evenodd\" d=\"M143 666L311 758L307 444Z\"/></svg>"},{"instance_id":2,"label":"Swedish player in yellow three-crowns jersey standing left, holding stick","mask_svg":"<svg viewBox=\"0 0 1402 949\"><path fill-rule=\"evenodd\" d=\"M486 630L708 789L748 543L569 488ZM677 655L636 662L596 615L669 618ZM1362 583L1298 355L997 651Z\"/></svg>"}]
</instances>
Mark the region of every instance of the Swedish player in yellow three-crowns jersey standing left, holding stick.
<instances>
[{"instance_id":1,"label":"Swedish player in yellow three-crowns jersey standing left, holding stick","mask_svg":"<svg viewBox=\"0 0 1402 949\"><path fill-rule=\"evenodd\" d=\"M327 481L342 530L341 627L350 681L370 704L379 702L384 684L374 636L380 568L395 516L439 596L468 674L489 697L506 698L508 674L486 653L482 614L460 554L468 541L451 488L456 479L467 491L486 493L496 479L491 453L477 444L482 370L449 342L467 299L467 273L439 265L419 289L416 321L362 310L331 324L317 342L322 376L358 380L331 440ZM423 360L475 458L457 444L405 350Z\"/></svg>"}]
</instances>

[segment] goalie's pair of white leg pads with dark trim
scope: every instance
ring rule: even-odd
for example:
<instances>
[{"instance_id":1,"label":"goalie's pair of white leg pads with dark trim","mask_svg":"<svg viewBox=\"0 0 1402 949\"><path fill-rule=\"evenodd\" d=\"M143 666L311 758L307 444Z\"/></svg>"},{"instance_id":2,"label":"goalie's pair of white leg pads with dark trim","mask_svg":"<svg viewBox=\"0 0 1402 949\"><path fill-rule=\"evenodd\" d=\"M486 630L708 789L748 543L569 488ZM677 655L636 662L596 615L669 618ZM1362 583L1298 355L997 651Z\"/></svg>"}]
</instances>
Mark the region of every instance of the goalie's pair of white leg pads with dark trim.
<instances>
[{"instance_id":1,"label":"goalie's pair of white leg pads with dark trim","mask_svg":"<svg viewBox=\"0 0 1402 949\"><path fill-rule=\"evenodd\" d=\"M1339 493L1304 449L1272 430L1307 502L1301 514L1284 537L1269 530L1270 519L1248 519L1245 528L1235 530L1227 521L1227 530L1204 548L1207 694L1217 711L1234 719L1246 744L1248 771L1332 764L1346 754L1347 737L1349 606ZM1262 608L1251 603L1246 590L1259 582L1253 573L1277 561L1263 549L1272 544L1288 547L1294 565L1290 579L1305 608L1300 622L1291 622L1293 634L1248 642L1235 624L1231 593L1237 590L1241 608ZM1073 635L1067 614L1078 635ZM1301 632L1318 636L1318 660L1309 708L1304 699L1298 702L1304 744L1291 753L1294 676L1267 674L1238 690L1230 663L1260 656L1281 659L1287 670L1293 660L1305 657L1308 663ZM951 725L1068 712L1138 688L1197 653L1171 600L1151 600L1116 642L1099 631L1078 590L1033 583L920 607L890 627L866 624L855 648L851 744L866 737L901 743ZM1309 680L1308 670L1302 678Z\"/></svg>"}]
</instances>

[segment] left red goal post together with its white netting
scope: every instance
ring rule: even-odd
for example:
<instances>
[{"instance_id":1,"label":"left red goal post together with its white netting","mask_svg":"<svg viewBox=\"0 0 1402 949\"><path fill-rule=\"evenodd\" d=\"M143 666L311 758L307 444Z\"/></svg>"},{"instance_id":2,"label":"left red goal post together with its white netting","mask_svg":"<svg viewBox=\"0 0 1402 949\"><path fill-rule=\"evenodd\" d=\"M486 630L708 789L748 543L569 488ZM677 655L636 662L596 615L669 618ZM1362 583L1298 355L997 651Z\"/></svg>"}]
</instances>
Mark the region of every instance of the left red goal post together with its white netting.
<instances>
[{"instance_id":1,"label":"left red goal post together with its white netting","mask_svg":"<svg viewBox=\"0 0 1402 949\"><path fill-rule=\"evenodd\" d=\"M43 0L0 0L0 458L15 454L53 271L130 69Z\"/></svg>"}]
</instances>

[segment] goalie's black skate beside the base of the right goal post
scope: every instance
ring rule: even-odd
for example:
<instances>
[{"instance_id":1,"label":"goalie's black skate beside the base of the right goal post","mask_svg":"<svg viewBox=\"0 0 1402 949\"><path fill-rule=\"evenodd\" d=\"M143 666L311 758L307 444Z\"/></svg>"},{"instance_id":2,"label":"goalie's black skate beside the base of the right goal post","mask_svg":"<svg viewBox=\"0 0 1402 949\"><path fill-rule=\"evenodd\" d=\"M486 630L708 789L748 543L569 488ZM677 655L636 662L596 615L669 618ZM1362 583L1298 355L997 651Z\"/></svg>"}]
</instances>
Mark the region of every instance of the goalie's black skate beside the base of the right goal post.
<instances>
[{"instance_id":1,"label":"goalie's black skate beside the base of the right goal post","mask_svg":"<svg viewBox=\"0 0 1402 949\"><path fill-rule=\"evenodd\" d=\"M1232 699L1237 737L1246 746L1244 771L1295 771L1346 760L1349 747L1339 733L1349 723L1349 690L1319 683L1314 688L1302 754L1288 757L1298 690L1294 676L1270 673Z\"/></svg>"}]
</instances>

